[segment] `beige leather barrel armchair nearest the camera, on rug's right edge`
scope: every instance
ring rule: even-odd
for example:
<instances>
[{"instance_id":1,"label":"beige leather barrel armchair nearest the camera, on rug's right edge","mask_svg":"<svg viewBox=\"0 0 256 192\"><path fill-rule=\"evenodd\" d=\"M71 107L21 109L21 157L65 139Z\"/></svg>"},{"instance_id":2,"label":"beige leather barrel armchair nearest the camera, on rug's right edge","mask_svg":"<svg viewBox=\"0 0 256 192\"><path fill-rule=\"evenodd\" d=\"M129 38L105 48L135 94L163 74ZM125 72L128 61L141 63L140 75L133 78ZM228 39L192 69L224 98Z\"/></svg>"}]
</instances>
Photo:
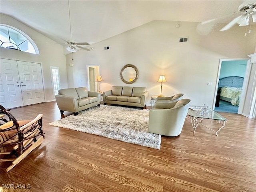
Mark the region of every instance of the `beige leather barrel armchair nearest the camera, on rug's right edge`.
<instances>
[{"instance_id":1,"label":"beige leather barrel armchair nearest the camera, on rug's right edge","mask_svg":"<svg viewBox=\"0 0 256 192\"><path fill-rule=\"evenodd\" d=\"M149 112L148 132L166 135L180 135L190 99L181 99L176 102L156 103Z\"/></svg>"}]
</instances>

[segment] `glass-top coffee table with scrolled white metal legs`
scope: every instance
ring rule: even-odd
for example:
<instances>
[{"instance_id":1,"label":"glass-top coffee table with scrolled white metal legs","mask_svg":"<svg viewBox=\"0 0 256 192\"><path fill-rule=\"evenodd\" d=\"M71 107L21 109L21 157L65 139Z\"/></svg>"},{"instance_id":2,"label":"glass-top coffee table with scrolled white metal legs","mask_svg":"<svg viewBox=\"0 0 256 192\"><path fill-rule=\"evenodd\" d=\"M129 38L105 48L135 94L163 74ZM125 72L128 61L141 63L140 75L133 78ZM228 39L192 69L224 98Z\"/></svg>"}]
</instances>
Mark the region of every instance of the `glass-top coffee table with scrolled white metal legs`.
<instances>
[{"instance_id":1,"label":"glass-top coffee table with scrolled white metal legs","mask_svg":"<svg viewBox=\"0 0 256 192\"><path fill-rule=\"evenodd\" d=\"M191 118L192 127L194 129L194 132L196 131L196 127L198 125L202 125L210 130L211 128L203 125L203 119L212 119L215 120L216 123L222 124L221 128L218 129L218 131L212 130L215 132L216 136L218 136L218 132L225 126L227 119L222 117L220 114L215 112L214 110L208 108L207 112L202 112L202 106L190 106L188 109L188 116ZM193 110L192 110L193 109Z\"/></svg>"}]
</instances>

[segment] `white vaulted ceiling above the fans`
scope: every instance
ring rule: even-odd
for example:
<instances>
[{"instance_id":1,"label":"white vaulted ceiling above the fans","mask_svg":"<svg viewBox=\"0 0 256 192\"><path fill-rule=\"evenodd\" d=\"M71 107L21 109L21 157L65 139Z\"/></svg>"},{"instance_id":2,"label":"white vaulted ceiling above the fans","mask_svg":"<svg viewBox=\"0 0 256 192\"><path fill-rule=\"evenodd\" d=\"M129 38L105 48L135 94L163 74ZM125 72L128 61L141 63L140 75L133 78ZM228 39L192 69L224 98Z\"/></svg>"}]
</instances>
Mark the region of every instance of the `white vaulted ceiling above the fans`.
<instances>
[{"instance_id":1,"label":"white vaulted ceiling above the fans","mask_svg":"<svg viewBox=\"0 0 256 192\"><path fill-rule=\"evenodd\" d=\"M152 20L202 22L226 16L237 12L242 2L1 0L0 11L62 44L71 39L70 24L76 42L100 42Z\"/></svg>"}]
</instances>

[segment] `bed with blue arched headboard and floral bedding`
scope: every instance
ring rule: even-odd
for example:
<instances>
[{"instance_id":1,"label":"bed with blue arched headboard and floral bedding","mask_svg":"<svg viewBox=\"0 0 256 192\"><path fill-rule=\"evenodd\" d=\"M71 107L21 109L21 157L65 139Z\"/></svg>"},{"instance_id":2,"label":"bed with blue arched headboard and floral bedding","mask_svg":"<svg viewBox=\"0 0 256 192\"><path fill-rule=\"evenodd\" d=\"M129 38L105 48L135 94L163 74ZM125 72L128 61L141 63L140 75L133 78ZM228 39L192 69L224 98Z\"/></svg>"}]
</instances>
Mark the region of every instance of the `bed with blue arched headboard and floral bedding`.
<instances>
[{"instance_id":1,"label":"bed with blue arched headboard and floral bedding","mask_svg":"<svg viewBox=\"0 0 256 192\"><path fill-rule=\"evenodd\" d=\"M238 76L224 77L219 80L216 106L219 106L220 99L239 106L244 78Z\"/></svg>"}]
</instances>

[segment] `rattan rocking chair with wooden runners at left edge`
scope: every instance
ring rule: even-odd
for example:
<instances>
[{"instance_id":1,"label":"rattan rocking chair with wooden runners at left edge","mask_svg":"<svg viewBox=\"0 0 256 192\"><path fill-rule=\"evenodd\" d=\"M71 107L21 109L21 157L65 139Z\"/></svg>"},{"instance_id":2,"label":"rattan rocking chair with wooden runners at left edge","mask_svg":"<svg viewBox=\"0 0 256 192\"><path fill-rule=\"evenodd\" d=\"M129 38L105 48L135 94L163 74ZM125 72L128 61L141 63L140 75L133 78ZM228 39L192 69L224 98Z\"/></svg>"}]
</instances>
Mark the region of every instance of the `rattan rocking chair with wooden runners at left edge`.
<instances>
[{"instance_id":1,"label":"rattan rocking chair with wooden runners at left edge","mask_svg":"<svg viewBox=\"0 0 256 192\"><path fill-rule=\"evenodd\" d=\"M43 115L39 114L33 120L17 121L8 109L0 107L0 162L12 162L6 169L8 172L41 144L44 138Z\"/></svg>"}]
</instances>

